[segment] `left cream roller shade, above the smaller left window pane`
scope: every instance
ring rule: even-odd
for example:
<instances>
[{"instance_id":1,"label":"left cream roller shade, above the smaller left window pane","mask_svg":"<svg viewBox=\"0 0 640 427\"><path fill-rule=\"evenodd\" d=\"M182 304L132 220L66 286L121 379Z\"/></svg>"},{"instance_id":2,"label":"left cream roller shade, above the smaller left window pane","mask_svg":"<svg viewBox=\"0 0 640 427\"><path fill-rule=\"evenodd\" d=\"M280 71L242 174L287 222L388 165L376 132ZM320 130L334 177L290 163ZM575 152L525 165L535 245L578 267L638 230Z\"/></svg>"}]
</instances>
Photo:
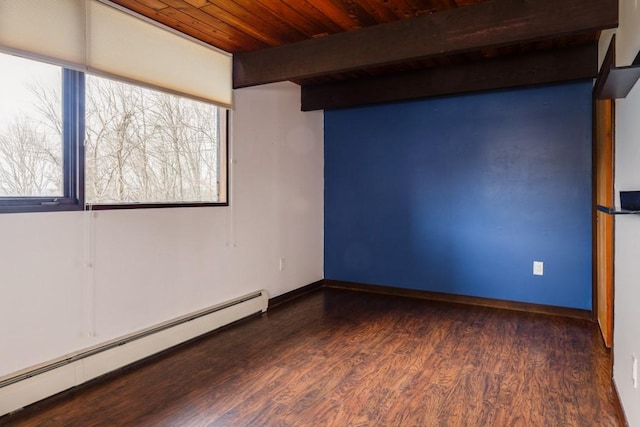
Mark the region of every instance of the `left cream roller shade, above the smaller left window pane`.
<instances>
[{"instance_id":1,"label":"left cream roller shade, above the smaller left window pane","mask_svg":"<svg viewBox=\"0 0 640 427\"><path fill-rule=\"evenodd\" d=\"M84 68L86 0L0 0L0 46Z\"/></svg>"}]
</instances>

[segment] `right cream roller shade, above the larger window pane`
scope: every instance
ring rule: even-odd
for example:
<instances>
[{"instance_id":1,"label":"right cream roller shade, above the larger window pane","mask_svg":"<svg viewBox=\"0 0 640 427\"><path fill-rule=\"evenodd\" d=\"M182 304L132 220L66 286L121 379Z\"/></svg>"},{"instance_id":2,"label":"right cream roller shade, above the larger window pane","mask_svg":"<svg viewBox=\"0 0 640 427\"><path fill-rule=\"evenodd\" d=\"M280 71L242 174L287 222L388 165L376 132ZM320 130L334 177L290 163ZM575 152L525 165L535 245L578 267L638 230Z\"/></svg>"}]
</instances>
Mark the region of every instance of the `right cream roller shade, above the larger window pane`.
<instances>
[{"instance_id":1,"label":"right cream roller shade, above the larger window pane","mask_svg":"<svg viewBox=\"0 0 640 427\"><path fill-rule=\"evenodd\" d=\"M89 2L89 71L231 105L231 56L97 1Z\"/></svg>"}]
</instances>

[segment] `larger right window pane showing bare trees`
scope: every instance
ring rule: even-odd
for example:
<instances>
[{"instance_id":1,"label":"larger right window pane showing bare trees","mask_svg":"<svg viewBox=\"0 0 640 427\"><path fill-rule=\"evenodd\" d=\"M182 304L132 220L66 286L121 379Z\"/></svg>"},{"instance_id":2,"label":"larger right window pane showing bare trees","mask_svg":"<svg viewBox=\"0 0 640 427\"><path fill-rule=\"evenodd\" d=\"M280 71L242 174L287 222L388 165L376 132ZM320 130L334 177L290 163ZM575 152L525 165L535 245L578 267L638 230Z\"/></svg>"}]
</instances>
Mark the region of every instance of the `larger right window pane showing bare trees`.
<instances>
[{"instance_id":1,"label":"larger right window pane showing bare trees","mask_svg":"<svg viewBox=\"0 0 640 427\"><path fill-rule=\"evenodd\" d=\"M221 202L220 111L86 76L88 203Z\"/></svg>"}]
</instances>

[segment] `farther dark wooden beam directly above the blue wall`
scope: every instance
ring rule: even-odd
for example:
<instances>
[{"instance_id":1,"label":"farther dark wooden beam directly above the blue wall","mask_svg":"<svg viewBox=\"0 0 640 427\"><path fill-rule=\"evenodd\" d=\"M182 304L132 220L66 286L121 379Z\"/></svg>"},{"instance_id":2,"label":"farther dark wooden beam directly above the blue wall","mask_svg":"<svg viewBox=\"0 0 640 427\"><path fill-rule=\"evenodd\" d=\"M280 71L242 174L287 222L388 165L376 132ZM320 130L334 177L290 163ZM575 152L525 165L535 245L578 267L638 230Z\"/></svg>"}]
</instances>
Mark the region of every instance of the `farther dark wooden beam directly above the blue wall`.
<instances>
[{"instance_id":1,"label":"farther dark wooden beam directly above the blue wall","mask_svg":"<svg viewBox=\"0 0 640 427\"><path fill-rule=\"evenodd\" d=\"M302 111L558 83L597 75L598 45L590 43L464 65L302 86Z\"/></svg>"}]
</instances>

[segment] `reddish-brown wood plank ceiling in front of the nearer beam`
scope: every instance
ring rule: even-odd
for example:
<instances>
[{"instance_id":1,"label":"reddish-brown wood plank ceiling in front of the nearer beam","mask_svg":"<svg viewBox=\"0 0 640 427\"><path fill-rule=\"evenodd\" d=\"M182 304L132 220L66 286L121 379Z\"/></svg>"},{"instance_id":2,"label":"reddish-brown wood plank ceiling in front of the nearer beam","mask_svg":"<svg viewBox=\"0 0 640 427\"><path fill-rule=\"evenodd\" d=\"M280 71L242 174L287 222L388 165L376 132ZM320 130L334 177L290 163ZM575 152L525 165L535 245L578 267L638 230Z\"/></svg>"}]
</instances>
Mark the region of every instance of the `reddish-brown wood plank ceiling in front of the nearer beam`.
<instances>
[{"instance_id":1,"label":"reddish-brown wood plank ceiling in front of the nearer beam","mask_svg":"<svg viewBox=\"0 0 640 427\"><path fill-rule=\"evenodd\" d=\"M114 0L229 53L251 52L486 0Z\"/></svg>"}]
</instances>

